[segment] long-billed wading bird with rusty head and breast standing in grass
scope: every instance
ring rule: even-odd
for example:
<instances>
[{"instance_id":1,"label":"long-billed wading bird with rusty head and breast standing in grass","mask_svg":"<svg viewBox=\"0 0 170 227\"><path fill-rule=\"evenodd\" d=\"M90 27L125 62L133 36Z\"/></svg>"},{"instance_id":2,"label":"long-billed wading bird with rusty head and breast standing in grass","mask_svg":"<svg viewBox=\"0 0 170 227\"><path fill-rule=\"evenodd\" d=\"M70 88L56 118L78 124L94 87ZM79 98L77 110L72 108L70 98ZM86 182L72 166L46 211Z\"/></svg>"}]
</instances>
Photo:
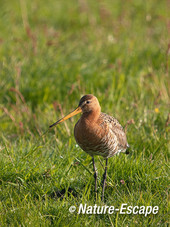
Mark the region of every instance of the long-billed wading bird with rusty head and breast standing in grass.
<instances>
[{"instance_id":1,"label":"long-billed wading bird with rusty head and breast standing in grass","mask_svg":"<svg viewBox=\"0 0 170 227\"><path fill-rule=\"evenodd\" d=\"M82 113L82 115L75 124L74 137L80 148L92 157L96 198L98 176L94 156L102 156L106 161L102 180L101 200L103 201L107 178L108 158L120 152L125 153L127 148L129 148L129 144L127 142L125 131L118 120L101 112L99 101L92 94L84 95L74 111L59 119L49 127L52 128L79 113Z\"/></svg>"}]
</instances>

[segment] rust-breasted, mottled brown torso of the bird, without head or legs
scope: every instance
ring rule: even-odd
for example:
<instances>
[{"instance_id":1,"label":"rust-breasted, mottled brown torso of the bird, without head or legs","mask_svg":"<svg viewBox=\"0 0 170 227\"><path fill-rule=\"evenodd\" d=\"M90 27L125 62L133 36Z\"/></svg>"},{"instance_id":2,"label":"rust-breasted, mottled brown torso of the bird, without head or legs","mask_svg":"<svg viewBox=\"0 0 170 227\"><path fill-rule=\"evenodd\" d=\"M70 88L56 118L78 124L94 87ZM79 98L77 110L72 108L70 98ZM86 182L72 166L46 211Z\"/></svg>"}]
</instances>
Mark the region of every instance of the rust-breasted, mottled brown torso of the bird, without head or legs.
<instances>
[{"instance_id":1,"label":"rust-breasted, mottled brown torso of the bird, without head or legs","mask_svg":"<svg viewBox=\"0 0 170 227\"><path fill-rule=\"evenodd\" d=\"M108 158L127 148L122 126L115 118L104 113L100 113L96 120L88 120L82 115L75 125L74 135L79 146L91 156Z\"/></svg>"}]
</instances>

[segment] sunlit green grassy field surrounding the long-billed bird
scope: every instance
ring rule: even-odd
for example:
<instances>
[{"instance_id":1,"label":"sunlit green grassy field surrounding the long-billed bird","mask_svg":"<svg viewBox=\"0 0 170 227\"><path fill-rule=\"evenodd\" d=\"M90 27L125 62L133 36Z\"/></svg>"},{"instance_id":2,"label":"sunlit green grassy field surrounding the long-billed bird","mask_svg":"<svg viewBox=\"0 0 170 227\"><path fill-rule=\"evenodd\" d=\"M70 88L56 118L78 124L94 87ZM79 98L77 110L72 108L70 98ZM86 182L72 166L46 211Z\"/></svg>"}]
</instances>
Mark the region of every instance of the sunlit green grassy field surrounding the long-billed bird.
<instances>
[{"instance_id":1,"label":"sunlit green grassy field surrounding the long-billed bird","mask_svg":"<svg viewBox=\"0 0 170 227\"><path fill-rule=\"evenodd\" d=\"M168 1L0 1L0 225L168 226ZM127 129L94 201L80 116L84 94ZM104 160L96 157L99 182ZM77 214L70 206L159 206L158 214Z\"/></svg>"}]
</instances>

